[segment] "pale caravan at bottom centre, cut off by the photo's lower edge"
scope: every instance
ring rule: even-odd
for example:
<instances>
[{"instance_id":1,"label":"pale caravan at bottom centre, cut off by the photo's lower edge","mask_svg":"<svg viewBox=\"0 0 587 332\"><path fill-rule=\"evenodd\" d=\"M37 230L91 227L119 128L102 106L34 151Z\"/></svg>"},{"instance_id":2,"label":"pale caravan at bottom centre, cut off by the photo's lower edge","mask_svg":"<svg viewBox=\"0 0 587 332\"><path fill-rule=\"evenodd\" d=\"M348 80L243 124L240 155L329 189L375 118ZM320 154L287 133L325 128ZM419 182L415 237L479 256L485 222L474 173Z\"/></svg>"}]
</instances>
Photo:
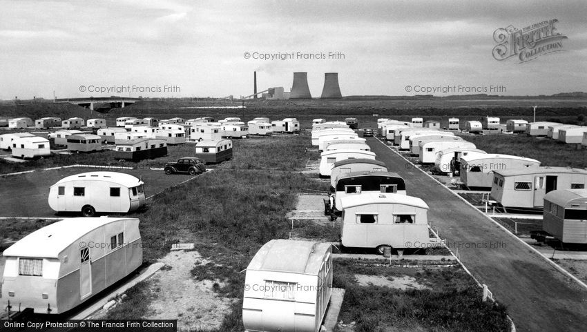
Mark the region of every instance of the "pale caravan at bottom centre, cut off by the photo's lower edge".
<instances>
[{"instance_id":1,"label":"pale caravan at bottom centre, cut off by the photo's lower edge","mask_svg":"<svg viewBox=\"0 0 587 332\"><path fill-rule=\"evenodd\" d=\"M247 266L246 331L321 331L332 292L331 244L271 240Z\"/></svg>"}]
</instances>

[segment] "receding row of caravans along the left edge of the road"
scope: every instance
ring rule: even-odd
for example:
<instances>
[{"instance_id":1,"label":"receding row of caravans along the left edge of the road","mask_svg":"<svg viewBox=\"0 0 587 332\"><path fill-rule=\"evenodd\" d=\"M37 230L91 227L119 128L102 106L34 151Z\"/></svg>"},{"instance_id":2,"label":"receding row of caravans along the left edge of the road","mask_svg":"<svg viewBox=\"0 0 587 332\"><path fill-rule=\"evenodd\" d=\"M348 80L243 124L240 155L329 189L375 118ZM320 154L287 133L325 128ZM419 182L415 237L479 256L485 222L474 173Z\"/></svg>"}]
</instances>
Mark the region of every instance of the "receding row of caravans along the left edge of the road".
<instances>
[{"instance_id":1,"label":"receding row of caravans along the left edge of the road","mask_svg":"<svg viewBox=\"0 0 587 332\"><path fill-rule=\"evenodd\" d=\"M409 241L434 242L425 202L407 196L403 178L388 172L364 139L358 141L349 130L327 122L316 123L312 130L313 141L323 150L320 176L330 177L334 191L329 210L343 217L341 244L383 253L389 247L405 248Z\"/></svg>"}]
</instances>

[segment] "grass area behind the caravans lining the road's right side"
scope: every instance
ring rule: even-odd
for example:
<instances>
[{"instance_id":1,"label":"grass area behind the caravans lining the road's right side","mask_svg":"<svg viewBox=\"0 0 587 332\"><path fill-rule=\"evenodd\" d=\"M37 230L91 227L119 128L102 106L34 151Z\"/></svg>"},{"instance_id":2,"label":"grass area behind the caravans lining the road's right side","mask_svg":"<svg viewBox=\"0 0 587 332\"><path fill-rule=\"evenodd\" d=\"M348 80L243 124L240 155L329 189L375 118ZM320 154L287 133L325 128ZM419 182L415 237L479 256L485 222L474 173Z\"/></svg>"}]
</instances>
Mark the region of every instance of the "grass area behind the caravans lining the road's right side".
<instances>
[{"instance_id":1,"label":"grass area behind the caravans lining the road's right side","mask_svg":"<svg viewBox=\"0 0 587 332\"><path fill-rule=\"evenodd\" d=\"M564 144L552 139L526 135L466 135L463 139L487 153L533 158L539 160L541 166L587 166L587 150L577 150L577 144Z\"/></svg>"}]
</instances>

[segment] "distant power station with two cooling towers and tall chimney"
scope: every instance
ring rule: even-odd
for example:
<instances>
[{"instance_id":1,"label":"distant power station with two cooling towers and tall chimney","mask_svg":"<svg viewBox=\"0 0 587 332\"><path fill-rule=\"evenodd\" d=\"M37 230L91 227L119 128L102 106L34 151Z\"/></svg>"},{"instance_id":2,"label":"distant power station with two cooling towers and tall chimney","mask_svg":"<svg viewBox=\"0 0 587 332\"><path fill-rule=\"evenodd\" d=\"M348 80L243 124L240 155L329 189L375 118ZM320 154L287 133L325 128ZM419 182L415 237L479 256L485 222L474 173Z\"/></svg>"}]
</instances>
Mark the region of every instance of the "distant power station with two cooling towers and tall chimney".
<instances>
[{"instance_id":1,"label":"distant power station with two cooling towers and tall chimney","mask_svg":"<svg viewBox=\"0 0 587 332\"><path fill-rule=\"evenodd\" d=\"M294 84L291 86L291 92L286 92L282 87L268 88L257 92L257 72L253 72L253 95L243 97L244 99L261 95L264 99L311 99L310 88L308 86L307 72L294 72ZM324 87L321 99L338 99L342 98L340 86L338 86L338 72L326 72L324 75Z\"/></svg>"}]
</instances>

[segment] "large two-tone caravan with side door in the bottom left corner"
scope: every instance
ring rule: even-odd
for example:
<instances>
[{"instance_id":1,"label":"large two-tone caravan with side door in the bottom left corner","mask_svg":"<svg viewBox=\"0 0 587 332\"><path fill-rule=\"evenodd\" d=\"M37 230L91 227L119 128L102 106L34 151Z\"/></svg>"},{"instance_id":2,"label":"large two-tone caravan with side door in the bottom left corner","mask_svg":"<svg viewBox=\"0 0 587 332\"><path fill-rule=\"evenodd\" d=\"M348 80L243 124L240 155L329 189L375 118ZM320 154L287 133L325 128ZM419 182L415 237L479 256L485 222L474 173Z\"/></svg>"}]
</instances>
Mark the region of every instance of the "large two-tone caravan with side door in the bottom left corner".
<instances>
[{"instance_id":1,"label":"large two-tone caravan with side door in the bottom left corner","mask_svg":"<svg viewBox=\"0 0 587 332\"><path fill-rule=\"evenodd\" d=\"M39 228L3 252L2 308L64 313L131 275L142 253L135 218L70 218Z\"/></svg>"}]
</instances>

